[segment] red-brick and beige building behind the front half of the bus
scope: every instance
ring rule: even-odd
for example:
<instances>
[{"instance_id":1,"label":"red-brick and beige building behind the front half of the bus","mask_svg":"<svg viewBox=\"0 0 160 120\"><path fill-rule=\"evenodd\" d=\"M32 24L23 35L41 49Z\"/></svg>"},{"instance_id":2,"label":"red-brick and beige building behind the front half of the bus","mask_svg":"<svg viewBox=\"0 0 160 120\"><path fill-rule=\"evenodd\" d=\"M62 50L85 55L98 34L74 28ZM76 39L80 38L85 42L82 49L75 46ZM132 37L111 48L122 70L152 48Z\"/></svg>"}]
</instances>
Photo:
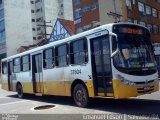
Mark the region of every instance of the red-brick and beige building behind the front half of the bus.
<instances>
[{"instance_id":1,"label":"red-brick and beige building behind the front half of the bus","mask_svg":"<svg viewBox=\"0 0 160 120\"><path fill-rule=\"evenodd\" d=\"M76 32L110 22L132 22L149 28L160 42L160 0L73 0Z\"/></svg>"}]
</instances>

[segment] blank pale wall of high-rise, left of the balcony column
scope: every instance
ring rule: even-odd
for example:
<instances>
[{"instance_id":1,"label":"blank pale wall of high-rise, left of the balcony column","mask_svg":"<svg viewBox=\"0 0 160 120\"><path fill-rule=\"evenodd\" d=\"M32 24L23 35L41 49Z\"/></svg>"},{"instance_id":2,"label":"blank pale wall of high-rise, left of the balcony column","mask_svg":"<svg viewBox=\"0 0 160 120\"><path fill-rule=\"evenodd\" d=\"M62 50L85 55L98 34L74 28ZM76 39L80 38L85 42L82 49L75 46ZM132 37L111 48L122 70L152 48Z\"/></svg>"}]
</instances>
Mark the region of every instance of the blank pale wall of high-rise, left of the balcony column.
<instances>
[{"instance_id":1,"label":"blank pale wall of high-rise, left of the balcony column","mask_svg":"<svg viewBox=\"0 0 160 120\"><path fill-rule=\"evenodd\" d=\"M33 44L30 0L4 0L7 56Z\"/></svg>"}]
</instances>

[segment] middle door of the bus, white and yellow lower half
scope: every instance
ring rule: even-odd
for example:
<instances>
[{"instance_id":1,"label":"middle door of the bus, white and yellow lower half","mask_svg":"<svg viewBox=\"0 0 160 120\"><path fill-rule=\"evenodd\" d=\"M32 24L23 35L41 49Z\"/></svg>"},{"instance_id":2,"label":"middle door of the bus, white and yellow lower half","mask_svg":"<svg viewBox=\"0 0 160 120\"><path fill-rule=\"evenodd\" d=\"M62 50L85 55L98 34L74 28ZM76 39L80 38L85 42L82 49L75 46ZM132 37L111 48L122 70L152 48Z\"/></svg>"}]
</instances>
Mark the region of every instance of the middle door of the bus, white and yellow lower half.
<instances>
[{"instance_id":1,"label":"middle door of the bus, white and yellow lower half","mask_svg":"<svg viewBox=\"0 0 160 120\"><path fill-rule=\"evenodd\" d=\"M32 55L32 79L35 93L43 93L42 54Z\"/></svg>"}]
</instances>

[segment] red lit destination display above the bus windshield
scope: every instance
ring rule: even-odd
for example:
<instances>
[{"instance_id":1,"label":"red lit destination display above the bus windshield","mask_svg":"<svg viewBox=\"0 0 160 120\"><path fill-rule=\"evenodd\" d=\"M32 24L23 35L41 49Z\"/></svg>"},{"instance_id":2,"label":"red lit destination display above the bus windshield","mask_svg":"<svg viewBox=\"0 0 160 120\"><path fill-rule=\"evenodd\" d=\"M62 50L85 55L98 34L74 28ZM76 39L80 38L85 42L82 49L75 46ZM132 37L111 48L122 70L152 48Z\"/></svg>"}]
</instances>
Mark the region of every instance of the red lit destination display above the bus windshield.
<instances>
[{"instance_id":1,"label":"red lit destination display above the bus windshield","mask_svg":"<svg viewBox=\"0 0 160 120\"><path fill-rule=\"evenodd\" d=\"M128 34L138 34L138 35L143 34L142 30L132 29L132 28L121 28L120 32L121 33L128 33Z\"/></svg>"}]
</instances>

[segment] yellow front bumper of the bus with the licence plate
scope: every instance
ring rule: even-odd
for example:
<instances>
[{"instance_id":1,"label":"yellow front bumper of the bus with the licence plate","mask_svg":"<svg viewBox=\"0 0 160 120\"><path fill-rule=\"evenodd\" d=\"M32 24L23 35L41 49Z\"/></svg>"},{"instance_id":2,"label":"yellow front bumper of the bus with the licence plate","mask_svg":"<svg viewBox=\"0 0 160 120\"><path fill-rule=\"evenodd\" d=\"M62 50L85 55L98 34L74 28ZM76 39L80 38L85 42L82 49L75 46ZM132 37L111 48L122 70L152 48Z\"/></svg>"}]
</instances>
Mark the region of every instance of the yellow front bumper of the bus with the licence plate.
<instances>
[{"instance_id":1,"label":"yellow front bumper of the bus with the licence plate","mask_svg":"<svg viewBox=\"0 0 160 120\"><path fill-rule=\"evenodd\" d=\"M119 80L113 80L113 89L115 99L136 97L158 91L159 81L147 85L128 86Z\"/></svg>"}]
</instances>

